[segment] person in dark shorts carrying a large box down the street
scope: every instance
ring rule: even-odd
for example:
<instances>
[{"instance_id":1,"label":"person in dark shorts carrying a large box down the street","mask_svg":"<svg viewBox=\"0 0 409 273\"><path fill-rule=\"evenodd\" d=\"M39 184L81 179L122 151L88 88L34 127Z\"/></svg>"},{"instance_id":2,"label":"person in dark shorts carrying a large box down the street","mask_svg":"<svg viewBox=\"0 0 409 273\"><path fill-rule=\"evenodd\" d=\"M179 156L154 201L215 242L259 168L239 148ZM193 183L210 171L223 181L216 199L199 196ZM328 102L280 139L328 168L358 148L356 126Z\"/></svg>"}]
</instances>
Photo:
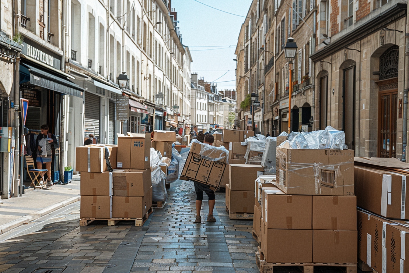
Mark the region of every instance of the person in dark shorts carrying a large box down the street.
<instances>
[{"instance_id":1,"label":"person in dark shorts carrying a large box down the street","mask_svg":"<svg viewBox=\"0 0 409 273\"><path fill-rule=\"evenodd\" d=\"M203 141L204 144L212 145L213 142L213 135L205 135L205 139ZM202 208L203 192L205 192L207 194L207 197L209 197L209 214L207 215L207 221L216 222L216 219L213 217L214 204L216 203L214 190L212 190L209 185L198 182L193 182L193 184L195 185L196 192L196 220L194 221L194 223L202 222L202 217L200 217L200 209Z\"/></svg>"}]
</instances>

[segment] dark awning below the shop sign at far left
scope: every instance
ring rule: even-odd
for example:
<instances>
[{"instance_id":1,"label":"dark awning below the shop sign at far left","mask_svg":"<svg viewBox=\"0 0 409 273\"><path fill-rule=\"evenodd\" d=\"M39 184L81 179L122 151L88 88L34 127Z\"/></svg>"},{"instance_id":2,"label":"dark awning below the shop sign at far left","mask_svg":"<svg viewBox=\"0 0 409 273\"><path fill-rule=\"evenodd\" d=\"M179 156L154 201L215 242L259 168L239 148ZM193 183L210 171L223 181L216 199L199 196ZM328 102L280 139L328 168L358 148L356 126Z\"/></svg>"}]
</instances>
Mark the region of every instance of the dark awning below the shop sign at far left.
<instances>
[{"instance_id":1,"label":"dark awning below the shop sign at far left","mask_svg":"<svg viewBox=\"0 0 409 273\"><path fill-rule=\"evenodd\" d=\"M83 88L79 87L68 79L58 76L57 74L51 74L46 70L36 68L26 63L21 63L20 73L27 76L24 77L24 79L28 79L29 77L29 82L33 85L54 90L66 95L72 95L80 98L83 97ZM22 83L21 79L20 83Z\"/></svg>"}]
</instances>

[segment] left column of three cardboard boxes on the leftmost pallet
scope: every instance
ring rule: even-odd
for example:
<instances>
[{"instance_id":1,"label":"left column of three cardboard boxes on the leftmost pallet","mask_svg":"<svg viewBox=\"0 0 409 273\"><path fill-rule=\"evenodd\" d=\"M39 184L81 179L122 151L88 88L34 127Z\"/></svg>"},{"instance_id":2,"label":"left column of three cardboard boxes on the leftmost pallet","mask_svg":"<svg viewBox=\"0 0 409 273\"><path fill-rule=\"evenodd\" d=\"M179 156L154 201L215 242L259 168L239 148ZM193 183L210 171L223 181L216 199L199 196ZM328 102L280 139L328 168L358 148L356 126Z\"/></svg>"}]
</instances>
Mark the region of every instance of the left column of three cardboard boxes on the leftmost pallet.
<instances>
[{"instance_id":1,"label":"left column of three cardboard boxes on the leftmost pallet","mask_svg":"<svg viewBox=\"0 0 409 273\"><path fill-rule=\"evenodd\" d=\"M110 163L117 164L117 147L110 145ZM112 172L108 171L105 147L76 147L75 171L81 172L81 218L112 218Z\"/></svg>"}]
</instances>

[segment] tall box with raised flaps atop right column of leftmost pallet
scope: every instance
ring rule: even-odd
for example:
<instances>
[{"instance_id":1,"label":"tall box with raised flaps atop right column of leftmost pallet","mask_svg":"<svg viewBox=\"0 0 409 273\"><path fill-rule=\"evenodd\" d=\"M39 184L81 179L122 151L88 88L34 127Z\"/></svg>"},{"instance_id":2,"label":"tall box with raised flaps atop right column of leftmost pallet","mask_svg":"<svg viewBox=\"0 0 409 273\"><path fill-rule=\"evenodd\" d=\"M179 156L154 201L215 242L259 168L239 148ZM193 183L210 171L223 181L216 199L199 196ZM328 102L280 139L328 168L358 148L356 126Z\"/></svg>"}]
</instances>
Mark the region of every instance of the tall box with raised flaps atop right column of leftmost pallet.
<instances>
[{"instance_id":1,"label":"tall box with raised flaps atop right column of leftmost pallet","mask_svg":"<svg viewBox=\"0 0 409 273\"><path fill-rule=\"evenodd\" d=\"M151 135L118 137L117 168L148 169L151 163Z\"/></svg>"}]
</instances>

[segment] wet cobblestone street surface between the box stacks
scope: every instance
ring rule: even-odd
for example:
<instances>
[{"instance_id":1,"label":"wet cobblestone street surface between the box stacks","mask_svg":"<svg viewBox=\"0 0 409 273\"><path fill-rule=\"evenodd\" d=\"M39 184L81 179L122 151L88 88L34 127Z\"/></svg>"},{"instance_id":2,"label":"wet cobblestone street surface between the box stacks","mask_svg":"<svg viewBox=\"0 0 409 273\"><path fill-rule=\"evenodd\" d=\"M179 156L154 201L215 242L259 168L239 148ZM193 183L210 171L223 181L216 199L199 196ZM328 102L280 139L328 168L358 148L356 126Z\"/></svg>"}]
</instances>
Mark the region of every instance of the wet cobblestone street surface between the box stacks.
<instances>
[{"instance_id":1,"label":"wet cobblestone street surface between the box stacks","mask_svg":"<svg viewBox=\"0 0 409 273\"><path fill-rule=\"evenodd\" d=\"M180 163L182 167L184 161ZM126 221L80 227L79 204L72 205L72 211L57 215L40 230L1 243L0 272L45 273L50 267L52 273L259 272L252 221L229 219L224 192L216 193L217 221L200 224L193 223L192 182L178 180L168 194L165 207L155 209L142 227ZM207 212L204 201L203 221Z\"/></svg>"}]
</instances>

